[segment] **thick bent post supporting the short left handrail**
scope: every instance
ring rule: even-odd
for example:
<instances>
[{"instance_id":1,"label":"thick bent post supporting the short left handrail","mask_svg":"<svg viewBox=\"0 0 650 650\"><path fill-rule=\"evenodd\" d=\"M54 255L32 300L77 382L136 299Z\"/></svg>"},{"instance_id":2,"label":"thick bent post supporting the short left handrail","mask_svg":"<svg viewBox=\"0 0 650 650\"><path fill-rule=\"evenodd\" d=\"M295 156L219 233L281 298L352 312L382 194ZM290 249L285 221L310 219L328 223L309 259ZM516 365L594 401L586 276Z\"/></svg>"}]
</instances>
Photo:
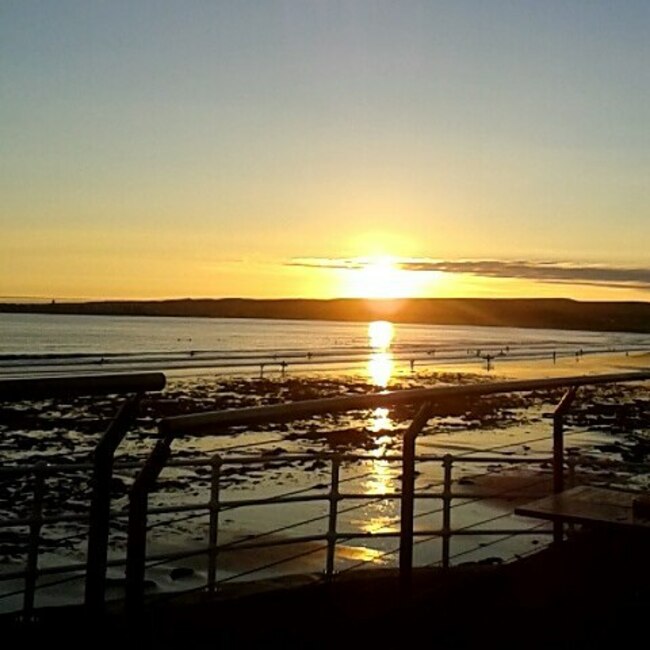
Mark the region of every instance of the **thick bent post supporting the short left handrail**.
<instances>
[{"instance_id":1,"label":"thick bent post supporting the short left handrail","mask_svg":"<svg viewBox=\"0 0 650 650\"><path fill-rule=\"evenodd\" d=\"M106 591L106 562L110 529L111 480L115 450L133 424L140 395L130 397L118 411L95 448L93 492L90 501L88 551L86 555L85 605L89 612L101 615Z\"/></svg>"}]
</instances>

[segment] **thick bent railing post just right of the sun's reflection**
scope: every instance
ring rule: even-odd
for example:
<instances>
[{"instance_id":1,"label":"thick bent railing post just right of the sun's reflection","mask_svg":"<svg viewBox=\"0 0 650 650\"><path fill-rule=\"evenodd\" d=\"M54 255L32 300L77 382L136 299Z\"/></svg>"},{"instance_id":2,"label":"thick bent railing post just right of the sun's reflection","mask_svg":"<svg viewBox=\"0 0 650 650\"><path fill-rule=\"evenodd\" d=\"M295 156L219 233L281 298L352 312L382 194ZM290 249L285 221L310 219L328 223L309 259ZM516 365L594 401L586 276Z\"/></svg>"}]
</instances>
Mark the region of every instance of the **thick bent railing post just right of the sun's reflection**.
<instances>
[{"instance_id":1,"label":"thick bent railing post just right of the sun's reflection","mask_svg":"<svg viewBox=\"0 0 650 650\"><path fill-rule=\"evenodd\" d=\"M399 572L403 587L410 587L413 570L413 514L415 500L415 439L431 416L432 404L420 406L402 441L402 499L400 512Z\"/></svg>"}]
</instances>

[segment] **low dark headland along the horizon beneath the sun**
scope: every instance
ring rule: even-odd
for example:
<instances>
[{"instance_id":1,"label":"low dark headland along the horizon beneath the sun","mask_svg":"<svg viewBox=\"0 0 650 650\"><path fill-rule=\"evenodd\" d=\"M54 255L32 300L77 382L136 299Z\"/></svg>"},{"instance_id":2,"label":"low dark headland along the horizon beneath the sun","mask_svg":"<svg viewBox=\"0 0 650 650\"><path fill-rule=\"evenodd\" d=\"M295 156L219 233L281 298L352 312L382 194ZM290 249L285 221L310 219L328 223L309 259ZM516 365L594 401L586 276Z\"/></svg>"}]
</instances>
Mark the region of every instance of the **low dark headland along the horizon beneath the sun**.
<instances>
[{"instance_id":1,"label":"low dark headland along the horizon beneath the sun","mask_svg":"<svg viewBox=\"0 0 650 650\"><path fill-rule=\"evenodd\" d=\"M270 318L483 325L650 333L650 303L563 298L409 298L332 300L250 298L0 303L0 312L110 316Z\"/></svg>"}]
</instances>

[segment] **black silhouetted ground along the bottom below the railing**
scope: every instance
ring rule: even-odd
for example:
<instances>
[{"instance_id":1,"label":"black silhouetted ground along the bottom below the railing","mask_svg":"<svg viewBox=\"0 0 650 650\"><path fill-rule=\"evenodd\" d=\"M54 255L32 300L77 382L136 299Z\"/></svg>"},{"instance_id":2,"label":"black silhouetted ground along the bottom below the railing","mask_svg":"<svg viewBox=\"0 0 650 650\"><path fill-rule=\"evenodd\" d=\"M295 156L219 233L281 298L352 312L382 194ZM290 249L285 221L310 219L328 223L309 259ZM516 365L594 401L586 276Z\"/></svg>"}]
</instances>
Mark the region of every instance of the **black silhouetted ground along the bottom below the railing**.
<instances>
[{"instance_id":1,"label":"black silhouetted ground along the bottom below the railing","mask_svg":"<svg viewBox=\"0 0 650 650\"><path fill-rule=\"evenodd\" d=\"M650 611L648 541L581 533L514 563L418 569L409 589L394 571L376 569L330 584L288 588L280 581L213 600L193 595L145 608L134 625L119 607L100 621L81 608L43 610L28 627L5 616L2 632L21 645L68 648L576 650L633 647L638 637L641 647Z\"/></svg>"}]
</instances>

